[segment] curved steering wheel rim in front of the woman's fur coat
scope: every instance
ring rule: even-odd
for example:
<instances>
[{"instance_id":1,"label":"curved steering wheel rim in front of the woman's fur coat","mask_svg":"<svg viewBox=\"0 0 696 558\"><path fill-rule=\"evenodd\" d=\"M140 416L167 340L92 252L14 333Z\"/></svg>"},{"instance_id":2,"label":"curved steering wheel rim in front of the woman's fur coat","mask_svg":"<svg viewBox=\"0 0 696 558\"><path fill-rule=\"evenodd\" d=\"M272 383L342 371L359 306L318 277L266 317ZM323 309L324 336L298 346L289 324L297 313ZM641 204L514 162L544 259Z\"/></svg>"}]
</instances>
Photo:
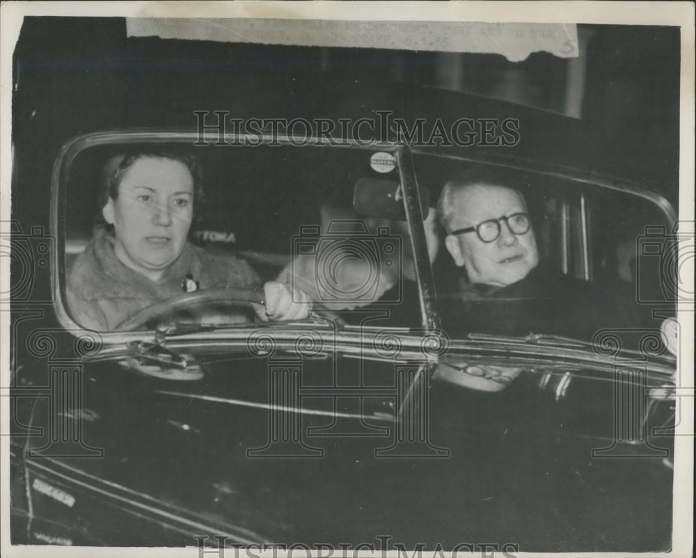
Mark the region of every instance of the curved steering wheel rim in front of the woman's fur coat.
<instances>
[{"instance_id":1,"label":"curved steering wheel rim in front of the woman's fur coat","mask_svg":"<svg viewBox=\"0 0 696 558\"><path fill-rule=\"evenodd\" d=\"M191 293L177 294L141 308L123 320L117 330L132 330L146 324L165 312L174 312L189 306L226 303L235 308L251 310L253 304L263 304L264 295L254 289L203 289Z\"/></svg>"}]
</instances>

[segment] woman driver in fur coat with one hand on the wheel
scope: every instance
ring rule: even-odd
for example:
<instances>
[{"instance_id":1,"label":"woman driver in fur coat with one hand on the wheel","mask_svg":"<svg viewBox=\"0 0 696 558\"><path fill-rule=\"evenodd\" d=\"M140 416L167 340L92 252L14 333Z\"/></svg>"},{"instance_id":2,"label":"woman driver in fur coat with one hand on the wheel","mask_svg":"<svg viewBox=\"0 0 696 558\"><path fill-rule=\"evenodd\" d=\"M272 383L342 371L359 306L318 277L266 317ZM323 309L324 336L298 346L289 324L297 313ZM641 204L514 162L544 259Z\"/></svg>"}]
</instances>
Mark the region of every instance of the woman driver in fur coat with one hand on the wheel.
<instances>
[{"instance_id":1,"label":"woman driver in fur coat with one hand on the wheel","mask_svg":"<svg viewBox=\"0 0 696 558\"><path fill-rule=\"evenodd\" d=\"M109 331L157 301L211 288L253 289L258 274L232 255L214 255L187 241L201 182L193 157L136 151L106 165L95 234L68 276L68 304L83 327ZM303 319L311 303L269 281L260 319Z\"/></svg>"}]
</instances>

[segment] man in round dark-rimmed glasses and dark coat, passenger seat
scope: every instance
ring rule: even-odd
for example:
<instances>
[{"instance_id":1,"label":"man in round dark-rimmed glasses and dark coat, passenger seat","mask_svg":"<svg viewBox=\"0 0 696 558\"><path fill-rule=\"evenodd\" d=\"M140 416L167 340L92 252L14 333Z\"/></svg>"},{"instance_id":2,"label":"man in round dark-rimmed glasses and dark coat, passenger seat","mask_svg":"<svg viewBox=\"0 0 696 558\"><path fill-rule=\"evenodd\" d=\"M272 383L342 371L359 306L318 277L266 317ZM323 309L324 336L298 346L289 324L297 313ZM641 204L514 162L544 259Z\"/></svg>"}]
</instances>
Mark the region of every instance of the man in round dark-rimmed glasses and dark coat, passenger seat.
<instances>
[{"instance_id":1,"label":"man in round dark-rimmed glasses and dark coat, passenger seat","mask_svg":"<svg viewBox=\"0 0 696 558\"><path fill-rule=\"evenodd\" d=\"M454 335L561 335L591 341L602 328L635 324L619 293L597 289L539 262L520 191L486 167L450 180L438 201L445 246L461 273L438 285L445 328Z\"/></svg>"}]
</instances>

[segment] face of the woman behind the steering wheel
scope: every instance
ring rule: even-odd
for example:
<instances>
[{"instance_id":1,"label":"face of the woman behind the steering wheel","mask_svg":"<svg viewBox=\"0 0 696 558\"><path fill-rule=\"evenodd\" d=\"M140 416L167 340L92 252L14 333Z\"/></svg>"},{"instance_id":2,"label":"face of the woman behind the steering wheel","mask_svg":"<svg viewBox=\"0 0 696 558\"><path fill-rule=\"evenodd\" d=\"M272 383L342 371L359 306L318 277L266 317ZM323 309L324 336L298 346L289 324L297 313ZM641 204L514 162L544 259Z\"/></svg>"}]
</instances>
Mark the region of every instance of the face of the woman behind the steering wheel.
<instances>
[{"instance_id":1,"label":"face of the woman behind the steering wheel","mask_svg":"<svg viewBox=\"0 0 696 558\"><path fill-rule=\"evenodd\" d=\"M116 200L102 209L116 257L152 280L181 255L193 216L193 177L180 161L142 157L125 170Z\"/></svg>"}]
</instances>

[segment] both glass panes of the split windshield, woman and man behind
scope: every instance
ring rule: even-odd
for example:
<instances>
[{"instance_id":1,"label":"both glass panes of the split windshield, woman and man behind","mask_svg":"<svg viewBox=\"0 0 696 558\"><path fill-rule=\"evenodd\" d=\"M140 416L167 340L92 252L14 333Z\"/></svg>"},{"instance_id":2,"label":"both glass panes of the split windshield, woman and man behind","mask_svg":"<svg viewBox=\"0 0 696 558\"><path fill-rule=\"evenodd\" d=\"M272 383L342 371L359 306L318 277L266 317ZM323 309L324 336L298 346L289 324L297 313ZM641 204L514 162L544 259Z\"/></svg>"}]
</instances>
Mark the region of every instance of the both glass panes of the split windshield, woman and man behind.
<instances>
[{"instance_id":1,"label":"both glass panes of the split windshield, woman and man behind","mask_svg":"<svg viewBox=\"0 0 696 558\"><path fill-rule=\"evenodd\" d=\"M267 282L345 324L426 323L389 148L192 143L111 139L70 159L61 276L78 324L248 324ZM650 200L434 155L414 163L429 193L416 250L448 335L591 337L635 325L636 302L659 289L636 259L646 226L664 224ZM590 333L569 327L580 310L596 310L583 314Z\"/></svg>"}]
</instances>

